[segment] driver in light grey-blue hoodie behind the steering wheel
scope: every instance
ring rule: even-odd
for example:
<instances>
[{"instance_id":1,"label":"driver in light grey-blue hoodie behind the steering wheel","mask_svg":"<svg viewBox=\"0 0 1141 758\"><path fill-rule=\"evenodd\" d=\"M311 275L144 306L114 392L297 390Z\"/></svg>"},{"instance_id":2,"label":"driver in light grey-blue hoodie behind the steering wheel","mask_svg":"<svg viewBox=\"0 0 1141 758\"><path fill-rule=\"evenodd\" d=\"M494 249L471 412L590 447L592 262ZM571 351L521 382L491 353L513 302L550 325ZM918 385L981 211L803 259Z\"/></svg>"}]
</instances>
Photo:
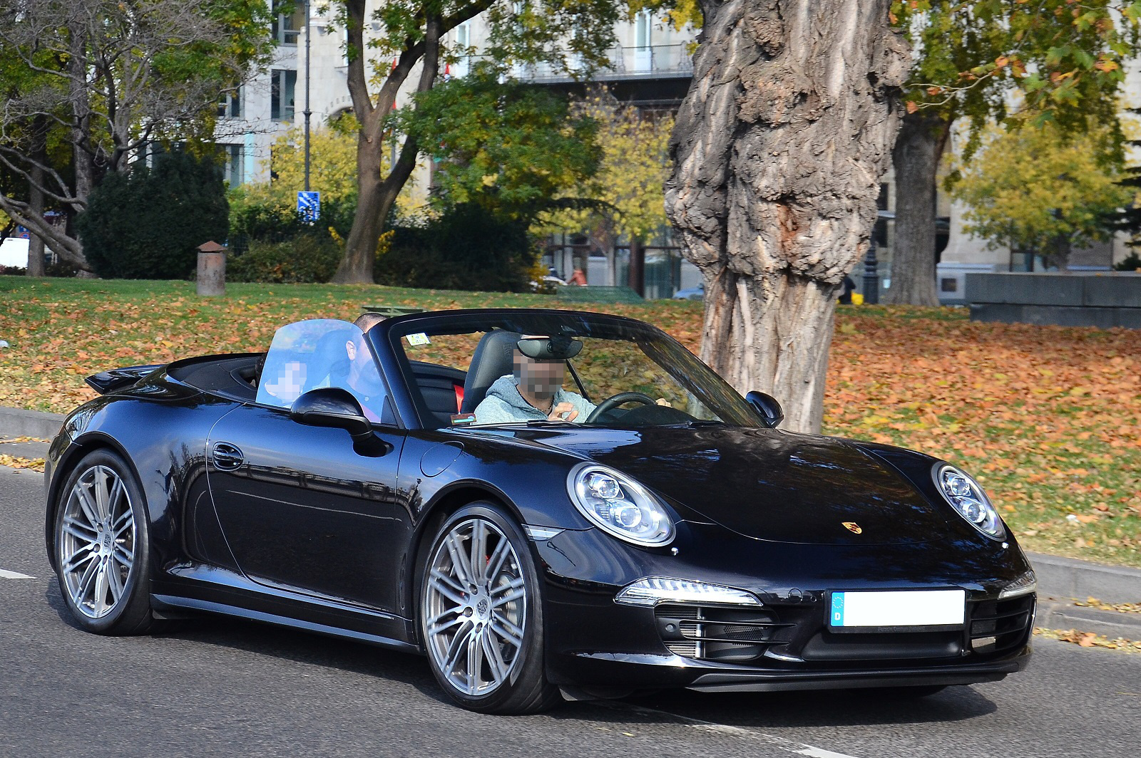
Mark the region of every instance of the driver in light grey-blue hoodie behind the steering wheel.
<instances>
[{"instance_id":1,"label":"driver in light grey-blue hoodie behind the steering wheel","mask_svg":"<svg viewBox=\"0 0 1141 758\"><path fill-rule=\"evenodd\" d=\"M515 350L515 373L501 376L476 406L477 424L511 424L524 421L583 423L594 405L563 389L566 362L537 360Z\"/></svg>"}]
</instances>

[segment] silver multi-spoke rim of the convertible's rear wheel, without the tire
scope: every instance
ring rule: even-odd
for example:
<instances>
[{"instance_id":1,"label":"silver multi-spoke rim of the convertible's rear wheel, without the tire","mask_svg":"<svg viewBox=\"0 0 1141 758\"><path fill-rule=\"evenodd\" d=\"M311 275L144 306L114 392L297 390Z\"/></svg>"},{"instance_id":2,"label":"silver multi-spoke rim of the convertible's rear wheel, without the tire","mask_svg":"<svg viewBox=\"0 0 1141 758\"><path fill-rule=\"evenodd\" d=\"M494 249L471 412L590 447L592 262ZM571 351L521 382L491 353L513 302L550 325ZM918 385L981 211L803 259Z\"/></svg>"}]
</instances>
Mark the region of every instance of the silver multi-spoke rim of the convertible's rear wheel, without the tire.
<instances>
[{"instance_id":1,"label":"silver multi-spoke rim of the convertible's rear wheel, without the tire","mask_svg":"<svg viewBox=\"0 0 1141 758\"><path fill-rule=\"evenodd\" d=\"M57 551L72 605L92 619L113 611L126 595L135 563L135 514L113 468L91 466L75 480L64 505Z\"/></svg>"}]
</instances>

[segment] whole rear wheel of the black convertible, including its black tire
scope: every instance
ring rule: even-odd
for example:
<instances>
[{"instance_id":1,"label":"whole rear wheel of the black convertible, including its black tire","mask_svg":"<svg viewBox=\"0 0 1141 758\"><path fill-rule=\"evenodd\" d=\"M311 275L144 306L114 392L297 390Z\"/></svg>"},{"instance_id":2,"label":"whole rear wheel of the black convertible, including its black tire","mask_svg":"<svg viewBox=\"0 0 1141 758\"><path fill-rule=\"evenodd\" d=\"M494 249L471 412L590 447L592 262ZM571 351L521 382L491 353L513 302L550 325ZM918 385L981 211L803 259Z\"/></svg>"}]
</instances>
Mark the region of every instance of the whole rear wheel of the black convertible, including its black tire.
<instances>
[{"instance_id":1,"label":"whole rear wheel of the black convertible, including its black tire","mask_svg":"<svg viewBox=\"0 0 1141 758\"><path fill-rule=\"evenodd\" d=\"M92 490L87 489L87 483L90 482L94 486L98 481L107 481L107 472L112 472L121 482L122 492L126 495L126 504L123 504L122 499L118 498L108 504L108 514L106 519L102 520L107 523L108 528L105 532L99 532L91 528L94 525L90 524L91 519L86 516L83 498L76 491L76 486L83 481L83 489L90 497ZM114 487L108 487L107 489L110 490L110 499L115 489ZM121 496L119 497L121 498ZM138 481L135 479L131 467L127 465L127 462L121 456L112 450L94 450L83 456L75 465L64 486L59 488L56 498L52 560L56 567L56 579L59 582L59 592L72 617L83 629L94 634L127 636L151 631L154 626L154 618L151 613L149 593L151 532L143 488L139 487ZM116 503L119 504L118 507ZM86 505L88 506L88 511L90 511L91 500L88 499ZM79 508L78 512L75 511L76 507ZM129 530L124 530L121 533L107 533L115 531L115 529L111 528L112 520L116 519L115 515L112 515L112 511L118 513L119 523L116 529L121 529L123 524L129 522ZM128 512L129 516L126 515ZM86 520L90 525L76 524L76 513L81 516L80 521ZM96 521L100 521L98 517L99 513L96 513L95 516ZM66 533L65 527L67 527ZM88 535L88 531L91 533ZM84 540L94 540L92 544L98 543L102 552L97 552L92 547L86 548L84 552L84 548L78 547L82 544L82 540L76 535L82 536ZM130 565L124 568L123 556L128 554L131 559ZM72 561L71 564L67 563L68 560ZM68 567L76 565L76 561L79 561L79 565L73 570L68 570ZM105 584L103 585L104 601L108 597L113 600L110 605L96 600L96 590L100 586L97 568L100 562L110 567L104 570ZM82 568L86 574L86 571L92 565L96 567L94 569L95 573L92 574L94 578L89 580L88 586L94 581L94 587L90 587L89 592L79 594L79 589L83 585L79 584L75 573ZM115 587L119 587L118 596L115 596ZM91 596L90 601L87 600L88 596Z\"/></svg>"}]
</instances>

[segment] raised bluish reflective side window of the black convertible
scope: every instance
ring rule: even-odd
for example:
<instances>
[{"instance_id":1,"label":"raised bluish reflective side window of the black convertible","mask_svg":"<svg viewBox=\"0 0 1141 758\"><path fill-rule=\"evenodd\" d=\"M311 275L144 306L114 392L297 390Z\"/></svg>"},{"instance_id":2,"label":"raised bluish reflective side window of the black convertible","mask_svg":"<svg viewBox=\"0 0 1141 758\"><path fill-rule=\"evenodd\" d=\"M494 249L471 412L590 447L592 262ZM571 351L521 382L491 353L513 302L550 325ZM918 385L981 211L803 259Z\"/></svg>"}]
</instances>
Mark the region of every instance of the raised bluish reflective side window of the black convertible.
<instances>
[{"instance_id":1,"label":"raised bluish reflective side window of the black convertible","mask_svg":"<svg viewBox=\"0 0 1141 758\"><path fill-rule=\"evenodd\" d=\"M258 382L258 402L289 408L309 390L337 386L380 423L385 383L361 329L335 319L297 321L277 329Z\"/></svg>"}]
</instances>

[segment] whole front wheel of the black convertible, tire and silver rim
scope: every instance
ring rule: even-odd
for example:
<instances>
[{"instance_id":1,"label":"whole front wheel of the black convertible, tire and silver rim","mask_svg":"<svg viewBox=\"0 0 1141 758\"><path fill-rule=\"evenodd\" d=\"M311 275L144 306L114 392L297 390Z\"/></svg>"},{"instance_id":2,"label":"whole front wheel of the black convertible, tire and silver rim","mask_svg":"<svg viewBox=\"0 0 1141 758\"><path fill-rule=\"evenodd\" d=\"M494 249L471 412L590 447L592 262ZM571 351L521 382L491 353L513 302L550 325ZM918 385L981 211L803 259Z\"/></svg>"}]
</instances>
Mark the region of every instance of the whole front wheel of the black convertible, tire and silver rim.
<instances>
[{"instance_id":1,"label":"whole front wheel of the black convertible, tire and silver rim","mask_svg":"<svg viewBox=\"0 0 1141 758\"><path fill-rule=\"evenodd\" d=\"M529 546L499 506L476 503L436 532L421 580L420 631L452 700L534 714L559 700L543 670L543 613Z\"/></svg>"}]
</instances>

